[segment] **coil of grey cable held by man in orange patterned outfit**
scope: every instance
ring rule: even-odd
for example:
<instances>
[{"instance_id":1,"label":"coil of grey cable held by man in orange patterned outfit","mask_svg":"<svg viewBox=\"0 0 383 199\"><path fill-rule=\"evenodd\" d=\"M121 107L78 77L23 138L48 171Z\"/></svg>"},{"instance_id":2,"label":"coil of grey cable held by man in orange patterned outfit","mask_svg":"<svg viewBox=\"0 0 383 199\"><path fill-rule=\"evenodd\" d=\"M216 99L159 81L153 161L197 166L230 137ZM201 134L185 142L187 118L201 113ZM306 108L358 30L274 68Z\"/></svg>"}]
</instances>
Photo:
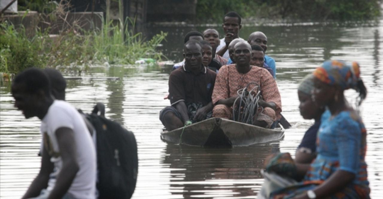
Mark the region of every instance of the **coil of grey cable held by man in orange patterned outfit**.
<instances>
[{"instance_id":1,"label":"coil of grey cable held by man in orange patterned outfit","mask_svg":"<svg viewBox=\"0 0 383 199\"><path fill-rule=\"evenodd\" d=\"M249 91L249 86L254 84L255 86ZM257 110L259 108L258 101L260 93L260 86L255 82L249 83L246 87L237 91L239 96L233 104L234 121L250 125L254 124L254 118L257 115ZM263 107L261 108L263 111Z\"/></svg>"}]
</instances>

